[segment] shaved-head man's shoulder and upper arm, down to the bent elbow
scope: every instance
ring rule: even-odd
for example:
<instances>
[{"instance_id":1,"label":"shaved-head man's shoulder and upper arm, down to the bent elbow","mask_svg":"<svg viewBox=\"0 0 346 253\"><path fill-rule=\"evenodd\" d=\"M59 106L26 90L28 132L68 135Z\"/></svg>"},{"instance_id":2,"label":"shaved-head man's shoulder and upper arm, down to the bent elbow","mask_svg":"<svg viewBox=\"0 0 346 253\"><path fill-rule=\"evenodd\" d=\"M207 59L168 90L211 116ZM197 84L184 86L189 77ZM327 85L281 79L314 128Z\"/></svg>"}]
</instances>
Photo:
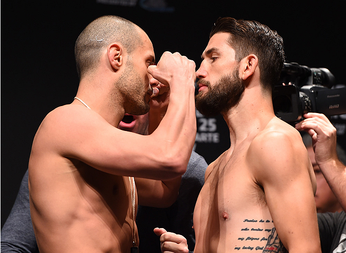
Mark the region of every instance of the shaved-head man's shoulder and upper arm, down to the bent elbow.
<instances>
[{"instance_id":1,"label":"shaved-head man's shoulder and upper arm, down to the bent elbow","mask_svg":"<svg viewBox=\"0 0 346 253\"><path fill-rule=\"evenodd\" d=\"M38 152L48 149L115 175L165 176L164 164L155 154L157 136L120 130L95 112L75 108L61 111L46 117L38 130Z\"/></svg>"}]
</instances>

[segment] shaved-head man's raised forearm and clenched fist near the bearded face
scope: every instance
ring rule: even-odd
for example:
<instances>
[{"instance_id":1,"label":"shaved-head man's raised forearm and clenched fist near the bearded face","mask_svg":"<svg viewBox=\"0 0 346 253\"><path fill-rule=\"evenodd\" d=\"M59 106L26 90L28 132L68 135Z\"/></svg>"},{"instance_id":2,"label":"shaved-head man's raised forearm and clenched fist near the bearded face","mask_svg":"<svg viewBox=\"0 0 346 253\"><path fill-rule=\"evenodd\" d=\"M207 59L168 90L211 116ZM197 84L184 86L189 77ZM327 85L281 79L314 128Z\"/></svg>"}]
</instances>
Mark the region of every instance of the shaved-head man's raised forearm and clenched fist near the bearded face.
<instances>
[{"instance_id":1,"label":"shaved-head man's raised forearm and clenched fist near the bearded face","mask_svg":"<svg viewBox=\"0 0 346 253\"><path fill-rule=\"evenodd\" d=\"M148 67L148 72L170 87L167 113L150 135L159 145L155 159L162 166L172 167L182 174L186 170L196 134L195 64L179 53L165 52L157 66ZM169 163L165 164L165 161Z\"/></svg>"}]
</instances>

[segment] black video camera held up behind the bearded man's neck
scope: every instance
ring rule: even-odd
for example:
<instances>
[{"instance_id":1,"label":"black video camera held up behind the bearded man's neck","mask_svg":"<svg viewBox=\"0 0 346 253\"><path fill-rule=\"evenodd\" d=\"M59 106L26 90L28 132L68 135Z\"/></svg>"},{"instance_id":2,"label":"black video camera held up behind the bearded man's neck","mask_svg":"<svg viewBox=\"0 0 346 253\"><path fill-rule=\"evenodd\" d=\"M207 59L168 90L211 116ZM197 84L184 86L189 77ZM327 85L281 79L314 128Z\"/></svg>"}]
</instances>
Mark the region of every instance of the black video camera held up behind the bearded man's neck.
<instances>
[{"instance_id":1,"label":"black video camera held up behind the bearded man's neck","mask_svg":"<svg viewBox=\"0 0 346 253\"><path fill-rule=\"evenodd\" d=\"M279 84L273 89L275 115L285 122L298 122L310 112L346 114L346 87L331 89L334 84L335 77L326 68L284 63Z\"/></svg>"}]
</instances>

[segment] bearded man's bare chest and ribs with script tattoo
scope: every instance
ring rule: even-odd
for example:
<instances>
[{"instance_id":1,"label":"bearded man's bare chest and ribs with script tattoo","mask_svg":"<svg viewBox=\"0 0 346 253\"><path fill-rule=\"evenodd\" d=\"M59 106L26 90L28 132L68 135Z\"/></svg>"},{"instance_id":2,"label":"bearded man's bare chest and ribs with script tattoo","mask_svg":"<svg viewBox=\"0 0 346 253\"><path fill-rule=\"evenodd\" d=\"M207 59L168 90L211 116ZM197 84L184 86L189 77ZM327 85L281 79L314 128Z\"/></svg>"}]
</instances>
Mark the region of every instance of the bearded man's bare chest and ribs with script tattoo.
<instances>
[{"instance_id":1,"label":"bearded man's bare chest and ribs with script tattoo","mask_svg":"<svg viewBox=\"0 0 346 253\"><path fill-rule=\"evenodd\" d=\"M193 225L195 252L200 247L206 252L263 250L269 237L275 237L263 190L245 155L224 160L210 172L195 206Z\"/></svg>"}]
</instances>

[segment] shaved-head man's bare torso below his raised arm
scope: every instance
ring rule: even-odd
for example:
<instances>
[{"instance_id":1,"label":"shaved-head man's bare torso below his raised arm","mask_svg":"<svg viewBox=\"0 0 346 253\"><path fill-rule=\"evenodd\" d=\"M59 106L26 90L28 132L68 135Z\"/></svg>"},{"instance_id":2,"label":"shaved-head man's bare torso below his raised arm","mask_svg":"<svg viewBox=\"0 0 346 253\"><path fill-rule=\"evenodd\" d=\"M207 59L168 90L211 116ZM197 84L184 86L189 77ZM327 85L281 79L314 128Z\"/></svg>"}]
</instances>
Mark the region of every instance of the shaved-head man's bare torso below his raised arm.
<instances>
[{"instance_id":1,"label":"shaved-head man's bare torso below his raised arm","mask_svg":"<svg viewBox=\"0 0 346 253\"><path fill-rule=\"evenodd\" d=\"M133 181L81 163L74 165L53 169L44 175L44 181L33 178L32 202L44 218L44 223L34 221L36 229L54 235L69 249L84 252L128 252L134 237L138 245Z\"/></svg>"}]
</instances>

